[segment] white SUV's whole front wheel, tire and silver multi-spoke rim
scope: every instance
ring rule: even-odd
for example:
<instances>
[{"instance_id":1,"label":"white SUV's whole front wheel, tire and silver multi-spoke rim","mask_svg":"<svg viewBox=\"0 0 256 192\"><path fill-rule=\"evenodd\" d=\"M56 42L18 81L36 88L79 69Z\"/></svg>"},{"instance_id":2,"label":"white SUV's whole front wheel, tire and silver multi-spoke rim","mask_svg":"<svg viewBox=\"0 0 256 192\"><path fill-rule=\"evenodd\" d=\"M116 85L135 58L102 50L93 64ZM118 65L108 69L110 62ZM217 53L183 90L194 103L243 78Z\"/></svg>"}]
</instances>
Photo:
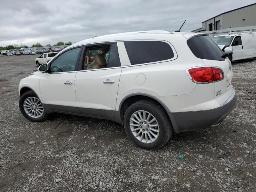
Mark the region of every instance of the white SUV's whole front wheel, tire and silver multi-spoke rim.
<instances>
[{"instance_id":1,"label":"white SUV's whole front wheel, tire and silver multi-spoke rim","mask_svg":"<svg viewBox=\"0 0 256 192\"><path fill-rule=\"evenodd\" d=\"M28 91L20 97L20 112L30 121L42 122L48 118L42 102L33 91Z\"/></svg>"}]
</instances>

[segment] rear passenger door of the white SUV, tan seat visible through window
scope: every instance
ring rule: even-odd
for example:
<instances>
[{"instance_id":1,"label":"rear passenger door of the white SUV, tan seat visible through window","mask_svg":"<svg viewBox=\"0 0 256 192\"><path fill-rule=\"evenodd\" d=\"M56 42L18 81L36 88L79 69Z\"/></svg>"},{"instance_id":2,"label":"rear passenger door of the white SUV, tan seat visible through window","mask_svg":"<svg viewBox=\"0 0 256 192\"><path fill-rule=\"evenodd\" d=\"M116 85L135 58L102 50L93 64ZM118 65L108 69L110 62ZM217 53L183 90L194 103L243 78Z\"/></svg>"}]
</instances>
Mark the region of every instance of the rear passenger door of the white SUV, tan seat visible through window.
<instances>
[{"instance_id":1,"label":"rear passenger door of the white SUV, tan seat visible through window","mask_svg":"<svg viewBox=\"0 0 256 192\"><path fill-rule=\"evenodd\" d=\"M100 51L110 46L110 51ZM106 66L96 68L101 56ZM120 60L116 43L86 46L81 70L76 74L77 106L83 114L92 117L114 119L118 84L121 75ZM96 69L94 69L96 68Z\"/></svg>"}]
</instances>

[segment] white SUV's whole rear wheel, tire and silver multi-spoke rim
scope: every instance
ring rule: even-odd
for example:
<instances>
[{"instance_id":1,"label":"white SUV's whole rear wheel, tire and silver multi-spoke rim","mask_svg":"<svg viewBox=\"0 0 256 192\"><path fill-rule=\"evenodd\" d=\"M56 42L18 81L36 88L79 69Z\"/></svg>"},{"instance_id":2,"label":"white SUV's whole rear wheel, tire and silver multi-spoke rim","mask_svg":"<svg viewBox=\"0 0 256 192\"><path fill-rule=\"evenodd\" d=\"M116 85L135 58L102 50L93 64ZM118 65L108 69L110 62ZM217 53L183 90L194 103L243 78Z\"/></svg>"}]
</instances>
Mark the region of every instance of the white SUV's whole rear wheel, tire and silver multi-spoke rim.
<instances>
[{"instance_id":1,"label":"white SUV's whole rear wheel, tire and silver multi-spoke rim","mask_svg":"<svg viewBox=\"0 0 256 192\"><path fill-rule=\"evenodd\" d=\"M124 129L136 145L147 150L164 146L172 135L171 122L160 104L141 100L124 114Z\"/></svg>"}]
</instances>

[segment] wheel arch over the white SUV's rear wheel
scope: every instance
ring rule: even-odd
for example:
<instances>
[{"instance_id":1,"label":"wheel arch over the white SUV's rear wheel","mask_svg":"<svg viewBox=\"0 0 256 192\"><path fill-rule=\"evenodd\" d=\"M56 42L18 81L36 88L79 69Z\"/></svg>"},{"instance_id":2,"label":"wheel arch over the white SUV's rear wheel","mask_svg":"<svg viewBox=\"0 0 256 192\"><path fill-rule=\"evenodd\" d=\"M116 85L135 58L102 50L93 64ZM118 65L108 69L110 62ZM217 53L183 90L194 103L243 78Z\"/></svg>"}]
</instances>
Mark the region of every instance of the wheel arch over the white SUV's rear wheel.
<instances>
[{"instance_id":1,"label":"wheel arch over the white SUV's rear wheel","mask_svg":"<svg viewBox=\"0 0 256 192\"><path fill-rule=\"evenodd\" d=\"M164 109L166 115L169 117L170 123L172 124L172 126L174 126L174 118L170 112L170 109L158 98L156 98L155 96L152 96L150 94L145 94L145 93L134 93L134 94L129 94L128 96L124 97L122 99L122 101L120 102L117 114L116 114L116 122L123 124L123 120L124 120L124 113L126 112L127 108L139 101L139 100L152 100L154 102L157 102L158 104L160 104L160 106L162 106L162 108Z\"/></svg>"}]
</instances>

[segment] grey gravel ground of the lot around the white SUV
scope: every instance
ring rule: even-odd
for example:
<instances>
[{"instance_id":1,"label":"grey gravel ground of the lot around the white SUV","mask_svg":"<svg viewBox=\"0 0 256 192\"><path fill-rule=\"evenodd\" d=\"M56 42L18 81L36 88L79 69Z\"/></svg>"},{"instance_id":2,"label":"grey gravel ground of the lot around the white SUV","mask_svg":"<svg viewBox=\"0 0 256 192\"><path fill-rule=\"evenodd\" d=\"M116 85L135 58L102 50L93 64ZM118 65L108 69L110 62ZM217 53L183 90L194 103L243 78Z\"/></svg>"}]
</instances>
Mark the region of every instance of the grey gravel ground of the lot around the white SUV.
<instances>
[{"instance_id":1,"label":"grey gravel ground of the lot around the white SUV","mask_svg":"<svg viewBox=\"0 0 256 192\"><path fill-rule=\"evenodd\" d=\"M37 70L35 58L0 55L0 191L256 191L256 59L234 62L238 102L218 128L175 134L147 151L115 122L24 118L18 84Z\"/></svg>"}]
</instances>

